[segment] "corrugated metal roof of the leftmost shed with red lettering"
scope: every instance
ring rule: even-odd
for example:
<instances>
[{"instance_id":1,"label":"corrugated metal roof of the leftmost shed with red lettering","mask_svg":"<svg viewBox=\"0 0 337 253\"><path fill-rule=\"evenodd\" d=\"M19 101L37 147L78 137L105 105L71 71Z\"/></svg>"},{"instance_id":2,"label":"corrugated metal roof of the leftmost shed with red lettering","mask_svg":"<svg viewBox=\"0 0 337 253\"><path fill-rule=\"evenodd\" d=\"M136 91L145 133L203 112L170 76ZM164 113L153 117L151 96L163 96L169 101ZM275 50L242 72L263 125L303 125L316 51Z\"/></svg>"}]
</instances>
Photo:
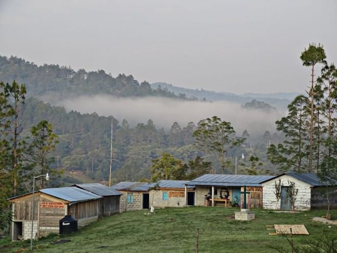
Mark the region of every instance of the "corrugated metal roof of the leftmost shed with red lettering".
<instances>
[{"instance_id":1,"label":"corrugated metal roof of the leftmost shed with red lettering","mask_svg":"<svg viewBox=\"0 0 337 253\"><path fill-rule=\"evenodd\" d=\"M48 189L41 189L40 192L70 202L94 200L102 198L97 194L85 191L77 187L48 188Z\"/></svg>"}]
</instances>

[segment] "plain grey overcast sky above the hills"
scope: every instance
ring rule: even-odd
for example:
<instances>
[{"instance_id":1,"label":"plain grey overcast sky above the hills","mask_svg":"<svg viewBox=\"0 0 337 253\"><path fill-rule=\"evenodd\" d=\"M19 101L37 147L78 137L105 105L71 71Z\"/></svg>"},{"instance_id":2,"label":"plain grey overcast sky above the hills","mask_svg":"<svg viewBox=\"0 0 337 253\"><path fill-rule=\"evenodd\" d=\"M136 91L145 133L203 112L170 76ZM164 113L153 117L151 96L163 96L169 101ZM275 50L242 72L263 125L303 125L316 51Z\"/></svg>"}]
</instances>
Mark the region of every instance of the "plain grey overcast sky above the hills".
<instances>
[{"instance_id":1,"label":"plain grey overcast sky above the hills","mask_svg":"<svg viewBox=\"0 0 337 253\"><path fill-rule=\"evenodd\" d=\"M337 1L0 0L0 55L138 81L303 92L301 51L337 62Z\"/></svg>"}]
</instances>

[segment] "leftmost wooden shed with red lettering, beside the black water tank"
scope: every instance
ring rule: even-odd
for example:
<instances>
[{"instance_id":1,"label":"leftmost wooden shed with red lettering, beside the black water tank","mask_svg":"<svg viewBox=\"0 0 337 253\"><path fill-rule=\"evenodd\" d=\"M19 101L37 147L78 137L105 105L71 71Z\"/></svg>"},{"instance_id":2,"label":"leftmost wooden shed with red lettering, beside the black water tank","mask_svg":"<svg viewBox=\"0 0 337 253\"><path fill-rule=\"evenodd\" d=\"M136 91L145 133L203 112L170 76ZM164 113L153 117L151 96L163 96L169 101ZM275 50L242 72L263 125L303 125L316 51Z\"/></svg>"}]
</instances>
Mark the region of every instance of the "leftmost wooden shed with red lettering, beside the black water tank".
<instances>
[{"instance_id":1,"label":"leftmost wooden shed with red lettering, beside the black water tank","mask_svg":"<svg viewBox=\"0 0 337 253\"><path fill-rule=\"evenodd\" d=\"M77 187L48 188L34 194L33 238L59 233L65 215L77 219L78 226L96 221L102 197ZM12 241L31 238L33 193L13 197Z\"/></svg>"}]
</instances>

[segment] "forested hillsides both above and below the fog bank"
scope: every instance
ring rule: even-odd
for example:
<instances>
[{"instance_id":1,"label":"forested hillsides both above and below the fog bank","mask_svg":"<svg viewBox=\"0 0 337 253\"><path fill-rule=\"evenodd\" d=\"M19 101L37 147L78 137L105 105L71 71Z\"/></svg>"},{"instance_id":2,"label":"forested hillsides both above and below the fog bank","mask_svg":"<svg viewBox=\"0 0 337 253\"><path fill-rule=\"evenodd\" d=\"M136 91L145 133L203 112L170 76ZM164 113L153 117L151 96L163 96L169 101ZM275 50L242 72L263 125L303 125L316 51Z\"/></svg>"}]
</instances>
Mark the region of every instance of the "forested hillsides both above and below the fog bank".
<instances>
[{"instance_id":1,"label":"forested hillsides both above and below the fog bank","mask_svg":"<svg viewBox=\"0 0 337 253\"><path fill-rule=\"evenodd\" d=\"M53 125L55 134L59 136L58 144L52 155L55 168L64 168L69 172L85 174L94 180L108 180L110 162L110 127L113 120L113 181L150 178L152 160L160 158L163 153L171 154L175 159L188 164L194 159L212 162L213 173L219 173L221 167L226 173L235 173L235 157L237 172L247 173L251 167L263 171L275 171L275 167L266 158L266 149L283 140L277 133L261 130L261 136L250 136L248 131L236 133L237 138L246 138L239 146L226 151L226 165L212 153L197 149L193 132L200 122L189 122L179 125L171 122L164 128L156 127L151 119L147 123L137 123L130 127L127 120L100 116L97 113L81 114L76 111L66 112L62 107L51 106L39 101L40 96L52 95L66 98L74 95L112 94L117 97L129 96L162 96L173 99L196 100L194 96L175 95L166 87L151 89L149 83L138 83L131 75L118 75L116 78L103 70L86 72L74 71L70 67L58 65L36 66L17 57L0 56L0 80L25 83L28 99L20 109L19 123L23 128L22 135L29 133L31 127L40 120L46 119ZM36 97L36 98L34 98ZM272 109L263 102L248 103L248 109ZM255 107L254 107L255 105ZM212 117L213 115L209 115ZM144 122L144 121L143 121ZM245 159L241 156L244 154ZM249 161L249 156L258 157L259 163ZM201 161L201 160L198 160ZM193 162L192 162L193 165Z\"/></svg>"}]
</instances>

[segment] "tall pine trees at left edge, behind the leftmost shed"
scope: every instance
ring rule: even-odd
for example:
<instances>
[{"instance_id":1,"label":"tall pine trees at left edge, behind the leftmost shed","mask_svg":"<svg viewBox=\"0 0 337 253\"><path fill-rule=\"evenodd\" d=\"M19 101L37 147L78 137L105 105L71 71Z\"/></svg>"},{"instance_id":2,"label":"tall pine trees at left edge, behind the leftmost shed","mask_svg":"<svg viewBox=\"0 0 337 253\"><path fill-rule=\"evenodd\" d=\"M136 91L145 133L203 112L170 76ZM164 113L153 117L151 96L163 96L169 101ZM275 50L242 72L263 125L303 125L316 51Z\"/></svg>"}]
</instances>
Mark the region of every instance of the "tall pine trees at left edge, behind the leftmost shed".
<instances>
[{"instance_id":1,"label":"tall pine trees at left edge, behind the leftmost shed","mask_svg":"<svg viewBox=\"0 0 337 253\"><path fill-rule=\"evenodd\" d=\"M28 134L22 134L21 107L25 99L25 85L0 82L0 228L11 219L9 197L26 193L37 174L60 173L50 167L53 157L49 154L57 142L52 125L41 120ZM43 188L44 179L40 178L37 185Z\"/></svg>"}]
</instances>

